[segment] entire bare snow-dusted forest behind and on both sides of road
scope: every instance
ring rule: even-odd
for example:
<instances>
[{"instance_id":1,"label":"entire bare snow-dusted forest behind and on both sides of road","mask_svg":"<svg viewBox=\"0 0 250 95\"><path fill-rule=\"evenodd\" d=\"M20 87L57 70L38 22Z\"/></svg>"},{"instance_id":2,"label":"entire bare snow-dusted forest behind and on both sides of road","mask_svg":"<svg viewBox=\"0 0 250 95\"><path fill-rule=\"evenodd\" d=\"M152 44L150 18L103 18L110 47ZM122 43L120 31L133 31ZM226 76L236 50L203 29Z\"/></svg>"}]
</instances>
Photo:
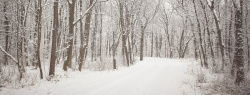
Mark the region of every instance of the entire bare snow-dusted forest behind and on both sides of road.
<instances>
[{"instance_id":1,"label":"entire bare snow-dusted forest behind and on both sides of road","mask_svg":"<svg viewBox=\"0 0 250 95\"><path fill-rule=\"evenodd\" d=\"M0 82L8 82L6 75L21 80L27 68L38 69L43 79L59 67L118 69L137 58L161 57L195 58L240 84L250 70L249 5L249 0L1 0Z\"/></svg>"}]
</instances>

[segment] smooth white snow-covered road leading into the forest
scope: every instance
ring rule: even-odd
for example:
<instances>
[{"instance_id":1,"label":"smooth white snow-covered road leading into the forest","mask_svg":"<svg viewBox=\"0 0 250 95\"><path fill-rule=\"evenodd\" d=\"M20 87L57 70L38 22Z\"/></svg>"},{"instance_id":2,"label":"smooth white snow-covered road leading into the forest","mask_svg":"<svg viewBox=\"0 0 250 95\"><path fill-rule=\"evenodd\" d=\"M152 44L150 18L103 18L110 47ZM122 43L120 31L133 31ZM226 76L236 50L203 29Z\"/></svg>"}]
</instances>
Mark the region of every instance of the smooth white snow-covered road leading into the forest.
<instances>
[{"instance_id":1,"label":"smooth white snow-covered road leading into the forest","mask_svg":"<svg viewBox=\"0 0 250 95\"><path fill-rule=\"evenodd\" d=\"M187 64L173 59L145 58L131 68L109 73L92 82L81 81L77 88L65 88L68 95L183 95Z\"/></svg>"}]
</instances>

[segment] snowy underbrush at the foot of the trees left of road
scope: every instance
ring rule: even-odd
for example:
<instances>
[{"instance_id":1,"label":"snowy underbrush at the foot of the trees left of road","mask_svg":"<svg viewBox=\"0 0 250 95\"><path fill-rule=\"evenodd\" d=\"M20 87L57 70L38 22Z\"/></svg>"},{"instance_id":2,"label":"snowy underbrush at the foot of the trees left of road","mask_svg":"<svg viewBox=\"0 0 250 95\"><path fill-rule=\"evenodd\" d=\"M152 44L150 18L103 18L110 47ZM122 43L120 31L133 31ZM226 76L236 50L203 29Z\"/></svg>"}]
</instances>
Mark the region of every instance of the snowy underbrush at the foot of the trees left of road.
<instances>
[{"instance_id":1,"label":"snowy underbrush at the foot of the trees left of road","mask_svg":"<svg viewBox=\"0 0 250 95\"><path fill-rule=\"evenodd\" d=\"M82 72L79 72L79 63L74 62L74 60L72 62L72 68L68 69L67 72L63 71L63 60L61 60L59 62L60 64L56 64L55 76L49 76L49 61L44 61L42 62L43 79L40 79L39 68L36 68L35 66L25 66L22 74L19 72L18 67L15 64L1 66L0 88L3 87L18 89L34 86L36 84L41 84L44 82L57 83L61 80L75 78L83 74L84 72L113 70L113 59L103 58L102 61L98 60L91 61L90 59L88 59L83 65ZM125 64L125 62L123 62L122 59L117 58L116 63L117 69L127 67L127 65Z\"/></svg>"}]
</instances>

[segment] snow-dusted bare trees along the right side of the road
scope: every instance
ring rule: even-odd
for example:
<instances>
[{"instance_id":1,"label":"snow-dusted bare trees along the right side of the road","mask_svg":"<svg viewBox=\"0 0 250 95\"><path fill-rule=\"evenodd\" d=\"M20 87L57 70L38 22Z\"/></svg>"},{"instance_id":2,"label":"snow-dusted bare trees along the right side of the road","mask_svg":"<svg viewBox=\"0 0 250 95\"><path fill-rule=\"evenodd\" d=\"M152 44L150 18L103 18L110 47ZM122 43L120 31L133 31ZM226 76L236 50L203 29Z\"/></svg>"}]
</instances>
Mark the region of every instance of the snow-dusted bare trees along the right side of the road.
<instances>
[{"instance_id":1,"label":"snow-dusted bare trees along the right side of the road","mask_svg":"<svg viewBox=\"0 0 250 95\"><path fill-rule=\"evenodd\" d=\"M201 66L224 72L240 84L250 67L249 0L178 0L183 31L193 31ZM185 28L186 27L186 28Z\"/></svg>"}]
</instances>

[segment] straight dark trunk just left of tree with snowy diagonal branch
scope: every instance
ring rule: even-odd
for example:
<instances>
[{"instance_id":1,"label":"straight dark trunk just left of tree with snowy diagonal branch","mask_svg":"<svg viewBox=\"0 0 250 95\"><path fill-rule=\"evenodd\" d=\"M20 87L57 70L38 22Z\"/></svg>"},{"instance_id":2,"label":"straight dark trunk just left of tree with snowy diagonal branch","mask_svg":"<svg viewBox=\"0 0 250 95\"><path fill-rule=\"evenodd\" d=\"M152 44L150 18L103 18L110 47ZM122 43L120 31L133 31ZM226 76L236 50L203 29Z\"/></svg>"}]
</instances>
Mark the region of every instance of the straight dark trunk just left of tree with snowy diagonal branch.
<instances>
[{"instance_id":1,"label":"straight dark trunk just left of tree with snowy diagonal branch","mask_svg":"<svg viewBox=\"0 0 250 95\"><path fill-rule=\"evenodd\" d=\"M58 0L54 1L54 21L52 30L52 48L51 48L51 59L50 59L50 69L49 75L55 75L55 63L56 63L56 39L58 31Z\"/></svg>"}]
</instances>

